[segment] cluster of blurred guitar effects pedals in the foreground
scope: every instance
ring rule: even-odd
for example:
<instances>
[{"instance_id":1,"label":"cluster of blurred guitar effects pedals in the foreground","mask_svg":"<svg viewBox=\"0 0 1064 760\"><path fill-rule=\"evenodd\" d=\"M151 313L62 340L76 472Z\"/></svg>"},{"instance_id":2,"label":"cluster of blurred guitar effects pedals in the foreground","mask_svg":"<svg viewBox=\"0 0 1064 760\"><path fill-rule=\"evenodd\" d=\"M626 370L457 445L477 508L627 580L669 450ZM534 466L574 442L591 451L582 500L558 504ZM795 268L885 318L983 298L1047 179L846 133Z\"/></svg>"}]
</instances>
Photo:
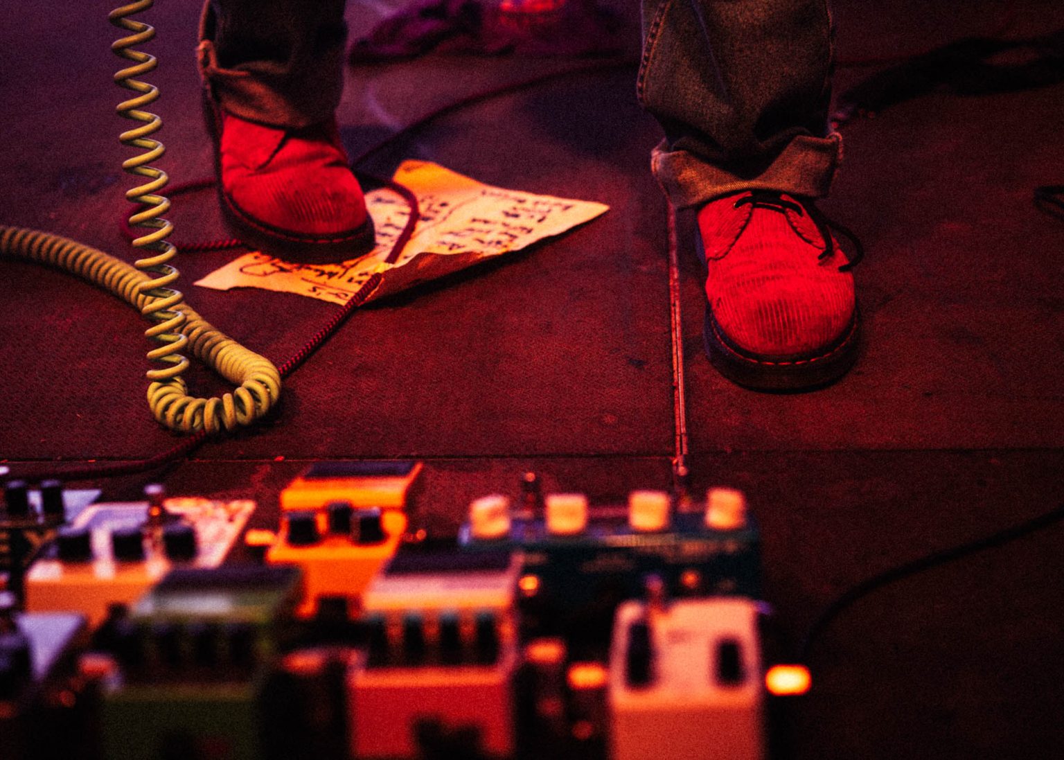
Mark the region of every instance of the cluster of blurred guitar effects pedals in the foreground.
<instances>
[{"instance_id":1,"label":"cluster of blurred guitar effects pedals in the foreground","mask_svg":"<svg viewBox=\"0 0 1064 760\"><path fill-rule=\"evenodd\" d=\"M50 538L0 610L4 760L767 758L742 493L591 503L525 474L434 535L420 469L314 465L250 564L223 563L250 500L153 485L61 521L16 483ZM43 722L69 730L38 746Z\"/></svg>"}]
</instances>

